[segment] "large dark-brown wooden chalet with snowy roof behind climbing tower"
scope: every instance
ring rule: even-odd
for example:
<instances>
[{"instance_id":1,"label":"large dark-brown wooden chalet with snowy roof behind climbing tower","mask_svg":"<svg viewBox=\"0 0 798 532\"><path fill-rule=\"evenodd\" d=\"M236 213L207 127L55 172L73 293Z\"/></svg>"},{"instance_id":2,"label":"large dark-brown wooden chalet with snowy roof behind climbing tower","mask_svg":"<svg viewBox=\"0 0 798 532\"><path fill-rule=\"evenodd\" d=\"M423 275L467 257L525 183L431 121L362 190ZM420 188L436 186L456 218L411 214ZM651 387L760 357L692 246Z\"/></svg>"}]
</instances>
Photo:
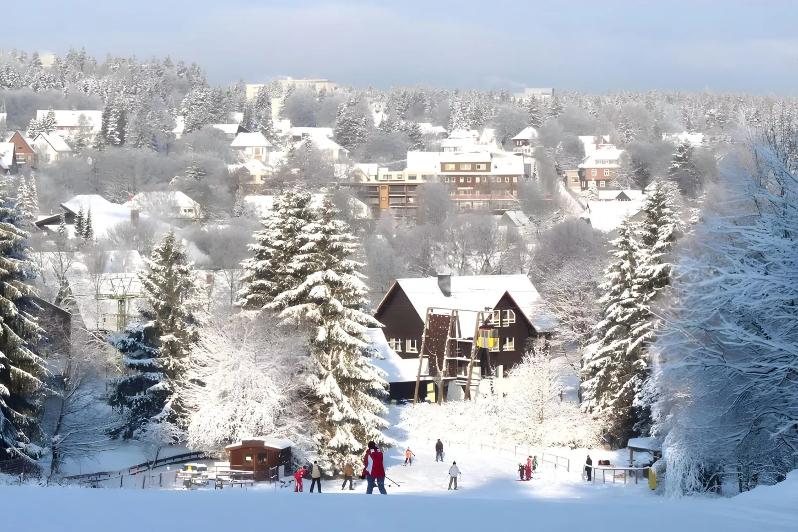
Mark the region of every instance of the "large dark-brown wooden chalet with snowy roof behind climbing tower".
<instances>
[{"instance_id":1,"label":"large dark-brown wooden chalet with snowy roof behind climbing tower","mask_svg":"<svg viewBox=\"0 0 798 532\"><path fill-rule=\"evenodd\" d=\"M498 330L498 341L489 349L478 350L475 380L504 376L522 359L527 339L552 332L555 325L554 320L547 316L537 290L524 275L443 274L437 278L399 279L374 313L374 317L385 326L381 329L382 334L375 336L387 343L389 355L394 359L393 363L387 364L398 368L396 371L389 368L387 380L392 399L413 399L428 308L433 308L434 312L427 324L425 351L433 353L437 359L433 357L431 362L422 364L425 368L441 367L446 331L452 322L451 310L458 311L454 325L459 339L450 347L450 356L460 360L450 361L456 367L450 368L454 377L444 389L444 397L448 399L463 395L468 372L466 359L472 352L476 328L485 324L485 316L490 316L487 321ZM386 363L379 365L385 367ZM429 371L422 370L422 373L434 375L436 371L433 367ZM440 381L434 376L421 381L420 399L437 397Z\"/></svg>"}]
</instances>

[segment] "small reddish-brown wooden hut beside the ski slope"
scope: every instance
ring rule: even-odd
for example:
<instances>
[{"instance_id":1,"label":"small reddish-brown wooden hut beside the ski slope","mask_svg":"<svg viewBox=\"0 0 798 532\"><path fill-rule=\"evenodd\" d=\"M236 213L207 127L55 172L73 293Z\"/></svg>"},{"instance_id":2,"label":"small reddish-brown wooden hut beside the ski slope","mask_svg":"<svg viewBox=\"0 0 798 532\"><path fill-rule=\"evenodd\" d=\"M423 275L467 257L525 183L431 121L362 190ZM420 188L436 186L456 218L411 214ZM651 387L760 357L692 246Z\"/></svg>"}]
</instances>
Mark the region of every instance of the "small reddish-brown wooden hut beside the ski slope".
<instances>
[{"instance_id":1,"label":"small reddish-brown wooden hut beside the ski slope","mask_svg":"<svg viewBox=\"0 0 798 532\"><path fill-rule=\"evenodd\" d=\"M277 480L290 474L291 447L287 439L244 439L224 447L232 470L252 471L255 480Z\"/></svg>"}]
</instances>

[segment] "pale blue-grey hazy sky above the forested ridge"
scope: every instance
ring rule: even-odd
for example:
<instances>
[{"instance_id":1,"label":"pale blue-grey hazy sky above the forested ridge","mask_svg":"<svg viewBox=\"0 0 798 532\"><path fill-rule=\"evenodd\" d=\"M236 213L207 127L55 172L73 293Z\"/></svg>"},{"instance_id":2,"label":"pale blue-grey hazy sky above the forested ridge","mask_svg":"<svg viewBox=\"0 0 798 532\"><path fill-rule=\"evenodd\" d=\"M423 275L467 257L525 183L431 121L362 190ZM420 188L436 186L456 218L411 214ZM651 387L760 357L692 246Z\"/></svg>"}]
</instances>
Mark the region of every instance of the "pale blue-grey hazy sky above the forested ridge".
<instances>
[{"instance_id":1,"label":"pale blue-grey hazy sky above the forested ridge","mask_svg":"<svg viewBox=\"0 0 798 532\"><path fill-rule=\"evenodd\" d=\"M0 46L170 55L219 84L795 94L796 20L798 0L39 0L6 7Z\"/></svg>"}]
</instances>

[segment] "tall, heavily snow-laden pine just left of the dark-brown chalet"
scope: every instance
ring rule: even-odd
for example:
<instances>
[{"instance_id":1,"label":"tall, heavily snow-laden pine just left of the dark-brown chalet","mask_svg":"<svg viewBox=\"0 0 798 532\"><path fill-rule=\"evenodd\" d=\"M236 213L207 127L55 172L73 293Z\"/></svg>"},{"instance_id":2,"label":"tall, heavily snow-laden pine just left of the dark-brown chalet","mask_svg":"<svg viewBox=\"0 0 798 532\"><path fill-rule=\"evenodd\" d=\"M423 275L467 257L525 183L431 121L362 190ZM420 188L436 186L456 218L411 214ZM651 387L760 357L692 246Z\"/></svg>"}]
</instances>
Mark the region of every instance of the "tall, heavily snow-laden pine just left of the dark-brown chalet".
<instances>
[{"instance_id":1,"label":"tall, heavily snow-laden pine just left of the dark-brown chalet","mask_svg":"<svg viewBox=\"0 0 798 532\"><path fill-rule=\"evenodd\" d=\"M294 288L282 292L268 308L281 310L283 324L308 331L310 408L314 441L322 467L358 460L369 440L387 447L381 430L387 384L373 366L365 329L378 327L366 314L361 264L350 257L357 247L347 224L335 220L329 199L306 224L298 240L301 253L291 261L294 272L308 272Z\"/></svg>"}]
</instances>

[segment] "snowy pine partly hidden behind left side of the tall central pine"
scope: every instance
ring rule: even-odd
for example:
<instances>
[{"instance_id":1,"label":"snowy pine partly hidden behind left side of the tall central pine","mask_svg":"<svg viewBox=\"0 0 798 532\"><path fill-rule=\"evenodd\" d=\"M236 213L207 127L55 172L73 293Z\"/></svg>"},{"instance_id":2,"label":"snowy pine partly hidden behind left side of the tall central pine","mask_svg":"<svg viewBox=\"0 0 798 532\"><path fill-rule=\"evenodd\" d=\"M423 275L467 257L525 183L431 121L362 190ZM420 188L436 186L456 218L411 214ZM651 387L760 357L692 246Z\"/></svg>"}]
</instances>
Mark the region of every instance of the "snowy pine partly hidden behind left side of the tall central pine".
<instances>
[{"instance_id":1,"label":"snowy pine partly hidden behind left side of the tall central pine","mask_svg":"<svg viewBox=\"0 0 798 532\"><path fill-rule=\"evenodd\" d=\"M241 263L245 285L238 293L240 307L260 310L302 282L306 272L290 269L290 263L300 252L299 232L314 220L310 201L310 193L297 190L275 197L271 214L261 220L263 229L249 246L253 256Z\"/></svg>"}]
</instances>

